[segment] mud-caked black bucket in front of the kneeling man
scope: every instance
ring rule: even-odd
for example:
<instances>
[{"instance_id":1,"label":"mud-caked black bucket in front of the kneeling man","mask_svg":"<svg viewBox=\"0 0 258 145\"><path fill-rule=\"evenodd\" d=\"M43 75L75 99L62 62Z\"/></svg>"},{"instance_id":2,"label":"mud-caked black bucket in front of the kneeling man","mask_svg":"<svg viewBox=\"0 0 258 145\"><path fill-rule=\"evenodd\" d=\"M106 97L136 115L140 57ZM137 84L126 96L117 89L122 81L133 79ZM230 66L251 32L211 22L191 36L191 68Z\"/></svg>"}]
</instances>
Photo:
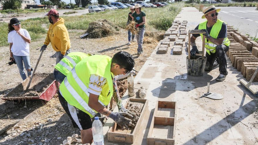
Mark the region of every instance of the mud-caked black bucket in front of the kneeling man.
<instances>
[{"instance_id":1,"label":"mud-caked black bucket in front of the kneeling man","mask_svg":"<svg viewBox=\"0 0 258 145\"><path fill-rule=\"evenodd\" d=\"M187 74L191 76L202 76L205 68L207 57L201 55L186 57Z\"/></svg>"}]
</instances>

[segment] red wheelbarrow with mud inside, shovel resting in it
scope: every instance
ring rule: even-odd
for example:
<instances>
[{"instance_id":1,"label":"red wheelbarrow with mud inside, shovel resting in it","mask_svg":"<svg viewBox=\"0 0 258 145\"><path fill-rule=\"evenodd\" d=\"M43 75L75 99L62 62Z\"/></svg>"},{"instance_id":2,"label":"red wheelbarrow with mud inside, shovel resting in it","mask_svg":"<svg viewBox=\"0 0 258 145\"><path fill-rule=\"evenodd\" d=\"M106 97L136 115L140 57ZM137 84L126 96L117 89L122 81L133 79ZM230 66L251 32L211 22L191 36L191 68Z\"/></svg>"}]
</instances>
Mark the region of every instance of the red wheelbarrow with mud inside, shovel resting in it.
<instances>
[{"instance_id":1,"label":"red wheelbarrow with mud inside, shovel resting in it","mask_svg":"<svg viewBox=\"0 0 258 145\"><path fill-rule=\"evenodd\" d=\"M30 88L26 90L30 77L13 88L1 99L10 101L21 100L45 100L49 101L57 93L60 83L55 81L53 73L35 73L30 83Z\"/></svg>"}]
</instances>

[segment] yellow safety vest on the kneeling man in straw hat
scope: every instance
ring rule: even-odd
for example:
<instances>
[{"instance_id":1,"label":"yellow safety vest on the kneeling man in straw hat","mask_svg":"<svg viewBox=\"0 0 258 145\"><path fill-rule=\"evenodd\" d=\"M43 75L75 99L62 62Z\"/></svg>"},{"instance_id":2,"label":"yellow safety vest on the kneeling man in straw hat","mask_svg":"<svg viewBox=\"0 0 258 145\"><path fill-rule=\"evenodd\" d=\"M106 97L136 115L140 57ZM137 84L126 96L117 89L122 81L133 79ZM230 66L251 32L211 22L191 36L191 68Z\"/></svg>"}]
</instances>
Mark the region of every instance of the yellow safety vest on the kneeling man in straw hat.
<instances>
[{"instance_id":1,"label":"yellow safety vest on the kneeling man in straw hat","mask_svg":"<svg viewBox=\"0 0 258 145\"><path fill-rule=\"evenodd\" d=\"M225 23L225 22L221 21L220 19L217 20L217 23L215 23L211 28L211 32L210 32L211 37L217 39L223 23ZM207 21L200 23L198 29L199 30L201 30L201 29L206 29L207 30L206 24L207 24ZM203 40L203 35L202 34L200 34L200 35L201 35L202 40ZM222 44L224 44L226 46L230 45L230 41L228 40L228 37L224 38ZM216 46L217 45L213 44L211 41L207 42L207 38L205 38L205 48L206 48L206 52L209 55L211 55L211 53L216 52Z\"/></svg>"}]
</instances>

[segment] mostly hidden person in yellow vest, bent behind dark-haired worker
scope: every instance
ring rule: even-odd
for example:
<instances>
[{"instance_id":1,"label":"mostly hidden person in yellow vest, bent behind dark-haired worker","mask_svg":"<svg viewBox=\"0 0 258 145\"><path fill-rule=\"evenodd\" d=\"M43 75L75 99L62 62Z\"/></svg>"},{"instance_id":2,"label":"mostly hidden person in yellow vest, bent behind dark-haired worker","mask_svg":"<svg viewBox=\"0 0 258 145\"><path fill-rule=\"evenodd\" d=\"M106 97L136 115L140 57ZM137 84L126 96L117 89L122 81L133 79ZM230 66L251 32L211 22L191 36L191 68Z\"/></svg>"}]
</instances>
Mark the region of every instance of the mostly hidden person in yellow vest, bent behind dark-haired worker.
<instances>
[{"instance_id":1,"label":"mostly hidden person in yellow vest, bent behind dark-haired worker","mask_svg":"<svg viewBox=\"0 0 258 145\"><path fill-rule=\"evenodd\" d=\"M78 64L82 59L91 56L91 54L86 54L83 52L71 52L67 54L63 59L58 62L54 70L54 78L59 83L65 79L67 74L72 70L72 68Z\"/></svg>"}]
</instances>

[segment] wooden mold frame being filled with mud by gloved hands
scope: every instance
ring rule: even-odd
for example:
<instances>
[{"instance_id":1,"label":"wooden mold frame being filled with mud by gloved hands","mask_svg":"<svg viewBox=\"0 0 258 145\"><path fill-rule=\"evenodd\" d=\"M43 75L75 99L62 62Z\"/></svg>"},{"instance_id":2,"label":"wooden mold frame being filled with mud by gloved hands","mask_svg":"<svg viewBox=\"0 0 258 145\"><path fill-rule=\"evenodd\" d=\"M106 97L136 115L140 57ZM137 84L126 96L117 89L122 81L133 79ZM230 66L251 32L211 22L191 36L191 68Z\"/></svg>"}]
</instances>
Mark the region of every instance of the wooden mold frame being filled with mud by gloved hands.
<instances>
[{"instance_id":1,"label":"wooden mold frame being filled with mud by gloved hands","mask_svg":"<svg viewBox=\"0 0 258 145\"><path fill-rule=\"evenodd\" d=\"M136 98L130 98L130 102L136 102L136 103L143 103L142 112L141 115L135 125L135 128L133 130L120 130L119 126L116 124L116 122L111 126L108 130L108 141L114 141L114 142L123 142L123 143L131 143L133 144L136 135L140 129L141 122L143 120L144 114L146 112L146 108L148 106L148 100L147 99L136 99ZM128 101L125 104L125 108L127 107ZM117 130L119 129L119 130Z\"/></svg>"}]
</instances>

